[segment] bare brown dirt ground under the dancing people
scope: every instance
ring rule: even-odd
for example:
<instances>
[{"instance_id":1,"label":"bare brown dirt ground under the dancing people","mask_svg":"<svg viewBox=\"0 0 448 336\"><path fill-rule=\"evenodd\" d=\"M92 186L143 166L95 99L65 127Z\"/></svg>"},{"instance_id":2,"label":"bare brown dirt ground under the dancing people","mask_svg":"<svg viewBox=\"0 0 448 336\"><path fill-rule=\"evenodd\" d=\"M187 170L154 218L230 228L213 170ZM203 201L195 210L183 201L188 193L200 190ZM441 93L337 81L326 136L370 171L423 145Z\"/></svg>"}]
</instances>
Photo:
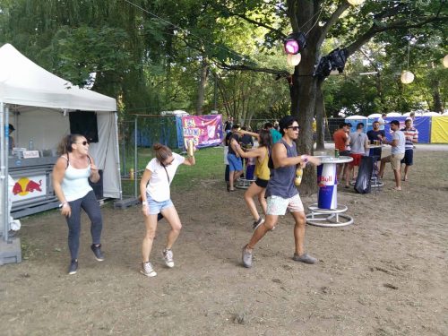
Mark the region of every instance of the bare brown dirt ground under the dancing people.
<instances>
[{"instance_id":1,"label":"bare brown dirt ground under the dancing people","mask_svg":"<svg viewBox=\"0 0 448 336\"><path fill-rule=\"evenodd\" d=\"M161 258L159 223L151 261L138 272L140 207L102 208L103 250L90 251L84 217L79 271L66 275L67 228L58 211L22 219L24 260L0 267L2 335L448 335L448 151L418 146L403 191L339 190L354 225L307 226L306 250L319 263L292 260L292 218L280 218L241 266L252 234L243 191L193 181L173 194L183 221L176 267ZM303 197L304 204L316 195Z\"/></svg>"}]
</instances>

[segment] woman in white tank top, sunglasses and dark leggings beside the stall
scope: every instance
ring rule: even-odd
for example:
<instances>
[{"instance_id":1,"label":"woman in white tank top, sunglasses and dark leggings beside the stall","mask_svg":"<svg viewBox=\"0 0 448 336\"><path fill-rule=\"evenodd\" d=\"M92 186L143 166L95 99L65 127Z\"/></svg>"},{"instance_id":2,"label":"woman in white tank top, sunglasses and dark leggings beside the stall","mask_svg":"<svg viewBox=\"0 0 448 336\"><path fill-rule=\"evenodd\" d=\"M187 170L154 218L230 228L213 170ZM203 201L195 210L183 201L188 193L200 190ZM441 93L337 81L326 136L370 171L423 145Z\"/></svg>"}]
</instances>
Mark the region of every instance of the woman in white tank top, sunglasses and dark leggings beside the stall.
<instances>
[{"instance_id":1,"label":"woman in white tank top, sunglasses and dark leggings beside the stall","mask_svg":"<svg viewBox=\"0 0 448 336\"><path fill-rule=\"evenodd\" d=\"M88 214L91 221L92 244L90 246L95 259L104 260L101 252L102 217L99 203L89 185L99 181L99 171L89 155L89 142L83 135L69 134L59 144L61 155L53 168L55 194L61 202L61 213L68 225L68 246L71 263L68 273L78 270L78 252L81 232L81 210Z\"/></svg>"}]
</instances>

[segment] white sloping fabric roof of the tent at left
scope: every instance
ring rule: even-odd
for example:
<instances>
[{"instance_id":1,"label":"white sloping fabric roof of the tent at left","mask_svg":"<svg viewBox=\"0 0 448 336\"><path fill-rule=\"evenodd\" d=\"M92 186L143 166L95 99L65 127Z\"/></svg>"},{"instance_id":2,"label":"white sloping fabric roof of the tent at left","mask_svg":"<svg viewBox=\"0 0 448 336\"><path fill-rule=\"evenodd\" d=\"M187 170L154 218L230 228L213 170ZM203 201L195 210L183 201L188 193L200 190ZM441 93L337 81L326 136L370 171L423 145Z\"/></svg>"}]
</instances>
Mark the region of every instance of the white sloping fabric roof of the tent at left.
<instances>
[{"instance_id":1,"label":"white sloping fabric roof of the tent at left","mask_svg":"<svg viewBox=\"0 0 448 336\"><path fill-rule=\"evenodd\" d=\"M15 47L0 47L0 101L41 108L116 111L116 99L80 89L31 62Z\"/></svg>"}]
</instances>

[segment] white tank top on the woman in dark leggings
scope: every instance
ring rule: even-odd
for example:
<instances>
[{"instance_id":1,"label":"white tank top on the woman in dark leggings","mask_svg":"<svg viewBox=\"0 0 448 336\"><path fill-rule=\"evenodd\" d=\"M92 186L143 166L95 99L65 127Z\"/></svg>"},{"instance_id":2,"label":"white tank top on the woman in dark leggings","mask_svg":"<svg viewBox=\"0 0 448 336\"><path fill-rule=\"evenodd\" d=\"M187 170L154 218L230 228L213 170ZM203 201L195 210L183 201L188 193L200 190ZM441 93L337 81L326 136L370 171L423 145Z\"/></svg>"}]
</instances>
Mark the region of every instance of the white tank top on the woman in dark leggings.
<instances>
[{"instance_id":1,"label":"white tank top on the woman in dark leggings","mask_svg":"<svg viewBox=\"0 0 448 336\"><path fill-rule=\"evenodd\" d=\"M72 202L84 197L86 194L93 190L89 185L90 177L90 159L89 166L87 168L73 168L70 165L70 161L67 159L67 168L65 169L64 179L62 181L62 191L64 192L65 200Z\"/></svg>"}]
</instances>

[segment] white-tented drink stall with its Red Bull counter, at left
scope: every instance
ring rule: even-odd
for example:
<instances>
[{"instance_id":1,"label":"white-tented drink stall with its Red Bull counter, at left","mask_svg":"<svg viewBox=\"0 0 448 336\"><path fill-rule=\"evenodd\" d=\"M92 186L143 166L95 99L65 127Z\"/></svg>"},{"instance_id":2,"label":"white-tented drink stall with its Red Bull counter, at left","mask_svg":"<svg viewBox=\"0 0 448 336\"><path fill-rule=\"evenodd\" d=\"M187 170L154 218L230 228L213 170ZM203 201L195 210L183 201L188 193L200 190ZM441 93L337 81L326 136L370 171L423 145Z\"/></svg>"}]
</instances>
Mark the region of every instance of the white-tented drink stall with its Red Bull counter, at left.
<instances>
[{"instance_id":1,"label":"white-tented drink stall with its Red Bull counter, at left","mask_svg":"<svg viewBox=\"0 0 448 336\"><path fill-rule=\"evenodd\" d=\"M0 108L2 181L9 174L15 182L14 218L58 206L51 171L57 145L70 133L91 142L90 155L102 175L101 196L121 197L116 99L73 86L5 44L0 48ZM14 126L13 134L8 134L8 124ZM7 147L9 135L13 151ZM2 190L8 193L3 182ZM6 203L1 206L6 211Z\"/></svg>"}]
</instances>

